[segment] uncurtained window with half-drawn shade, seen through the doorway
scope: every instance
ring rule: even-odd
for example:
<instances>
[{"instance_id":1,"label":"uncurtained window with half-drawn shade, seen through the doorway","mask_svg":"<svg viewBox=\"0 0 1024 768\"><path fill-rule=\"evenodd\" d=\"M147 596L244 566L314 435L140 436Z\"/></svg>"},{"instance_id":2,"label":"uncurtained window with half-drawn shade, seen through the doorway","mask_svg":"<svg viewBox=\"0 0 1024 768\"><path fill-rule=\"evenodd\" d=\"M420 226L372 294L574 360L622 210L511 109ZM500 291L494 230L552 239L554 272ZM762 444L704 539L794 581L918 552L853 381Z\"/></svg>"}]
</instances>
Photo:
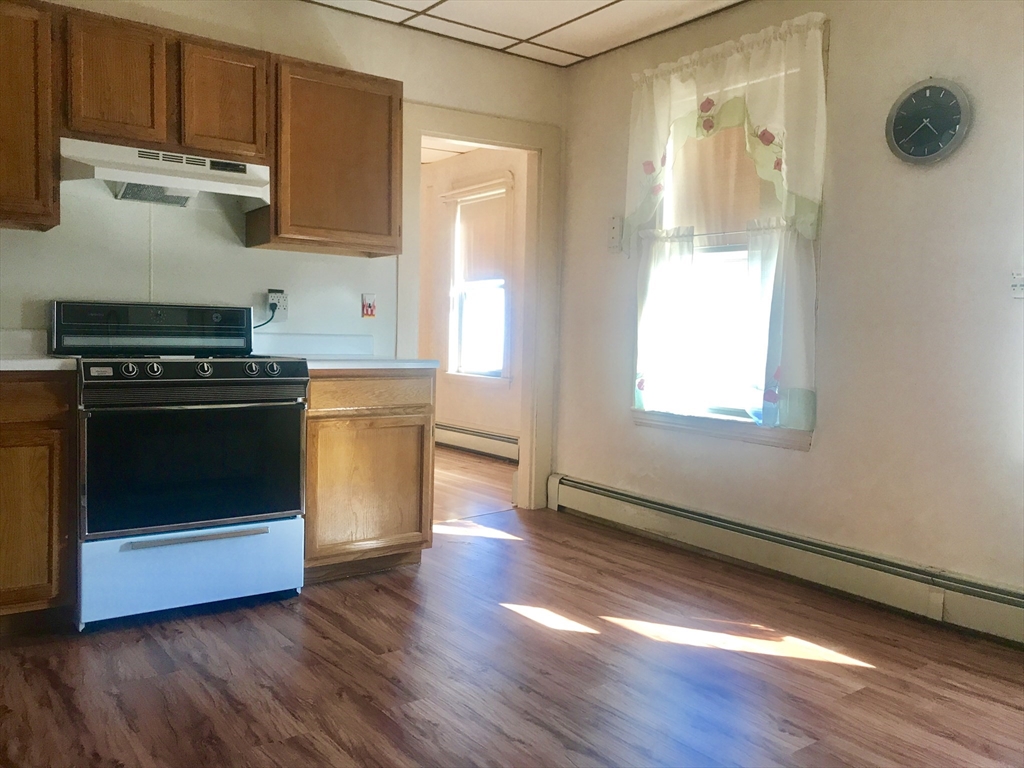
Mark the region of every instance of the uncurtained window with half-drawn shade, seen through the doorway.
<instances>
[{"instance_id":1,"label":"uncurtained window with half-drawn shade, seen through the doorway","mask_svg":"<svg viewBox=\"0 0 1024 768\"><path fill-rule=\"evenodd\" d=\"M507 375L508 206L504 187L456 201L449 373Z\"/></svg>"}]
</instances>

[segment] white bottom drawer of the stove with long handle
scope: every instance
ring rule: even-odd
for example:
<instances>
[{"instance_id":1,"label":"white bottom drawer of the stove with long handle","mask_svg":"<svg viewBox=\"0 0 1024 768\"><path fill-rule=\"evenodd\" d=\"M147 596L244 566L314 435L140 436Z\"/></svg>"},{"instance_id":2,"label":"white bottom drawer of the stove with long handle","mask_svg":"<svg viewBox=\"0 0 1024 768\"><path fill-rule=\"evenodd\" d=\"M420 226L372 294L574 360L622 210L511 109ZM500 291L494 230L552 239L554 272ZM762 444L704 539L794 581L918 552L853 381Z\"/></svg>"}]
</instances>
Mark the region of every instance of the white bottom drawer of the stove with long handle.
<instances>
[{"instance_id":1,"label":"white bottom drawer of the stove with long handle","mask_svg":"<svg viewBox=\"0 0 1024 768\"><path fill-rule=\"evenodd\" d=\"M303 519L82 544L79 625L302 587Z\"/></svg>"}]
</instances>

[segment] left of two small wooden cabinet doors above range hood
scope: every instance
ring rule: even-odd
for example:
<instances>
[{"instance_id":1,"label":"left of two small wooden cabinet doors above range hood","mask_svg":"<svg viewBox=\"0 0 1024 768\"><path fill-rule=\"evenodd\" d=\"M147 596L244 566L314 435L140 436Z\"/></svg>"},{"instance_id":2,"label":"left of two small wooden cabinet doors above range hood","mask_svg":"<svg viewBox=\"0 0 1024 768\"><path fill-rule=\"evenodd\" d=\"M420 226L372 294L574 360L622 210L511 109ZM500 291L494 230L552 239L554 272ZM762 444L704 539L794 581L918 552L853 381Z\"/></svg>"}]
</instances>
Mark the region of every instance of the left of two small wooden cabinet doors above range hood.
<instances>
[{"instance_id":1,"label":"left of two small wooden cabinet doors above range hood","mask_svg":"<svg viewBox=\"0 0 1024 768\"><path fill-rule=\"evenodd\" d=\"M68 19L69 127L167 139L167 38L120 19Z\"/></svg>"}]
</instances>

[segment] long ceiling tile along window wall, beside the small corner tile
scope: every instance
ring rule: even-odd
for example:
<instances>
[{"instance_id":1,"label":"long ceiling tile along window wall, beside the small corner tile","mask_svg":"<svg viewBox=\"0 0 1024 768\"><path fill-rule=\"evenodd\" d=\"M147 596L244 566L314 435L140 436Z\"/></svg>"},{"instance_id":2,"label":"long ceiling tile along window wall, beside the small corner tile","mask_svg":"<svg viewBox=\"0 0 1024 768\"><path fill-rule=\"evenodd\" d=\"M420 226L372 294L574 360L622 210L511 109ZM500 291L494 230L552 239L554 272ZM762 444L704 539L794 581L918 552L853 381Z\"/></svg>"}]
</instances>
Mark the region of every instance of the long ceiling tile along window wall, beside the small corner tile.
<instances>
[{"instance_id":1,"label":"long ceiling tile along window wall, beside the small corner tile","mask_svg":"<svg viewBox=\"0 0 1024 768\"><path fill-rule=\"evenodd\" d=\"M737 2L741 0L622 0L535 42L594 56Z\"/></svg>"}]
</instances>

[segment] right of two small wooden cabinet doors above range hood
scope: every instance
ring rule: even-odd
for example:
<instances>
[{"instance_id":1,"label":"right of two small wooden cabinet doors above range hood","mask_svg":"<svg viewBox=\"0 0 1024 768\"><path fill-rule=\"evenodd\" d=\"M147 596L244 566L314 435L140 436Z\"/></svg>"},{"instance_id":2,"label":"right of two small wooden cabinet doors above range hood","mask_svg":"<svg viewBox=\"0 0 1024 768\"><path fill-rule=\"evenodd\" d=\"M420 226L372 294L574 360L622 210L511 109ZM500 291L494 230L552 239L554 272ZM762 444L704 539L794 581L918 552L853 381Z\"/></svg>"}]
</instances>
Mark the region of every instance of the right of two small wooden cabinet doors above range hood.
<instances>
[{"instance_id":1,"label":"right of two small wooden cabinet doors above range hood","mask_svg":"<svg viewBox=\"0 0 1024 768\"><path fill-rule=\"evenodd\" d=\"M266 59L262 53L181 43L181 143L262 156Z\"/></svg>"}]
</instances>

